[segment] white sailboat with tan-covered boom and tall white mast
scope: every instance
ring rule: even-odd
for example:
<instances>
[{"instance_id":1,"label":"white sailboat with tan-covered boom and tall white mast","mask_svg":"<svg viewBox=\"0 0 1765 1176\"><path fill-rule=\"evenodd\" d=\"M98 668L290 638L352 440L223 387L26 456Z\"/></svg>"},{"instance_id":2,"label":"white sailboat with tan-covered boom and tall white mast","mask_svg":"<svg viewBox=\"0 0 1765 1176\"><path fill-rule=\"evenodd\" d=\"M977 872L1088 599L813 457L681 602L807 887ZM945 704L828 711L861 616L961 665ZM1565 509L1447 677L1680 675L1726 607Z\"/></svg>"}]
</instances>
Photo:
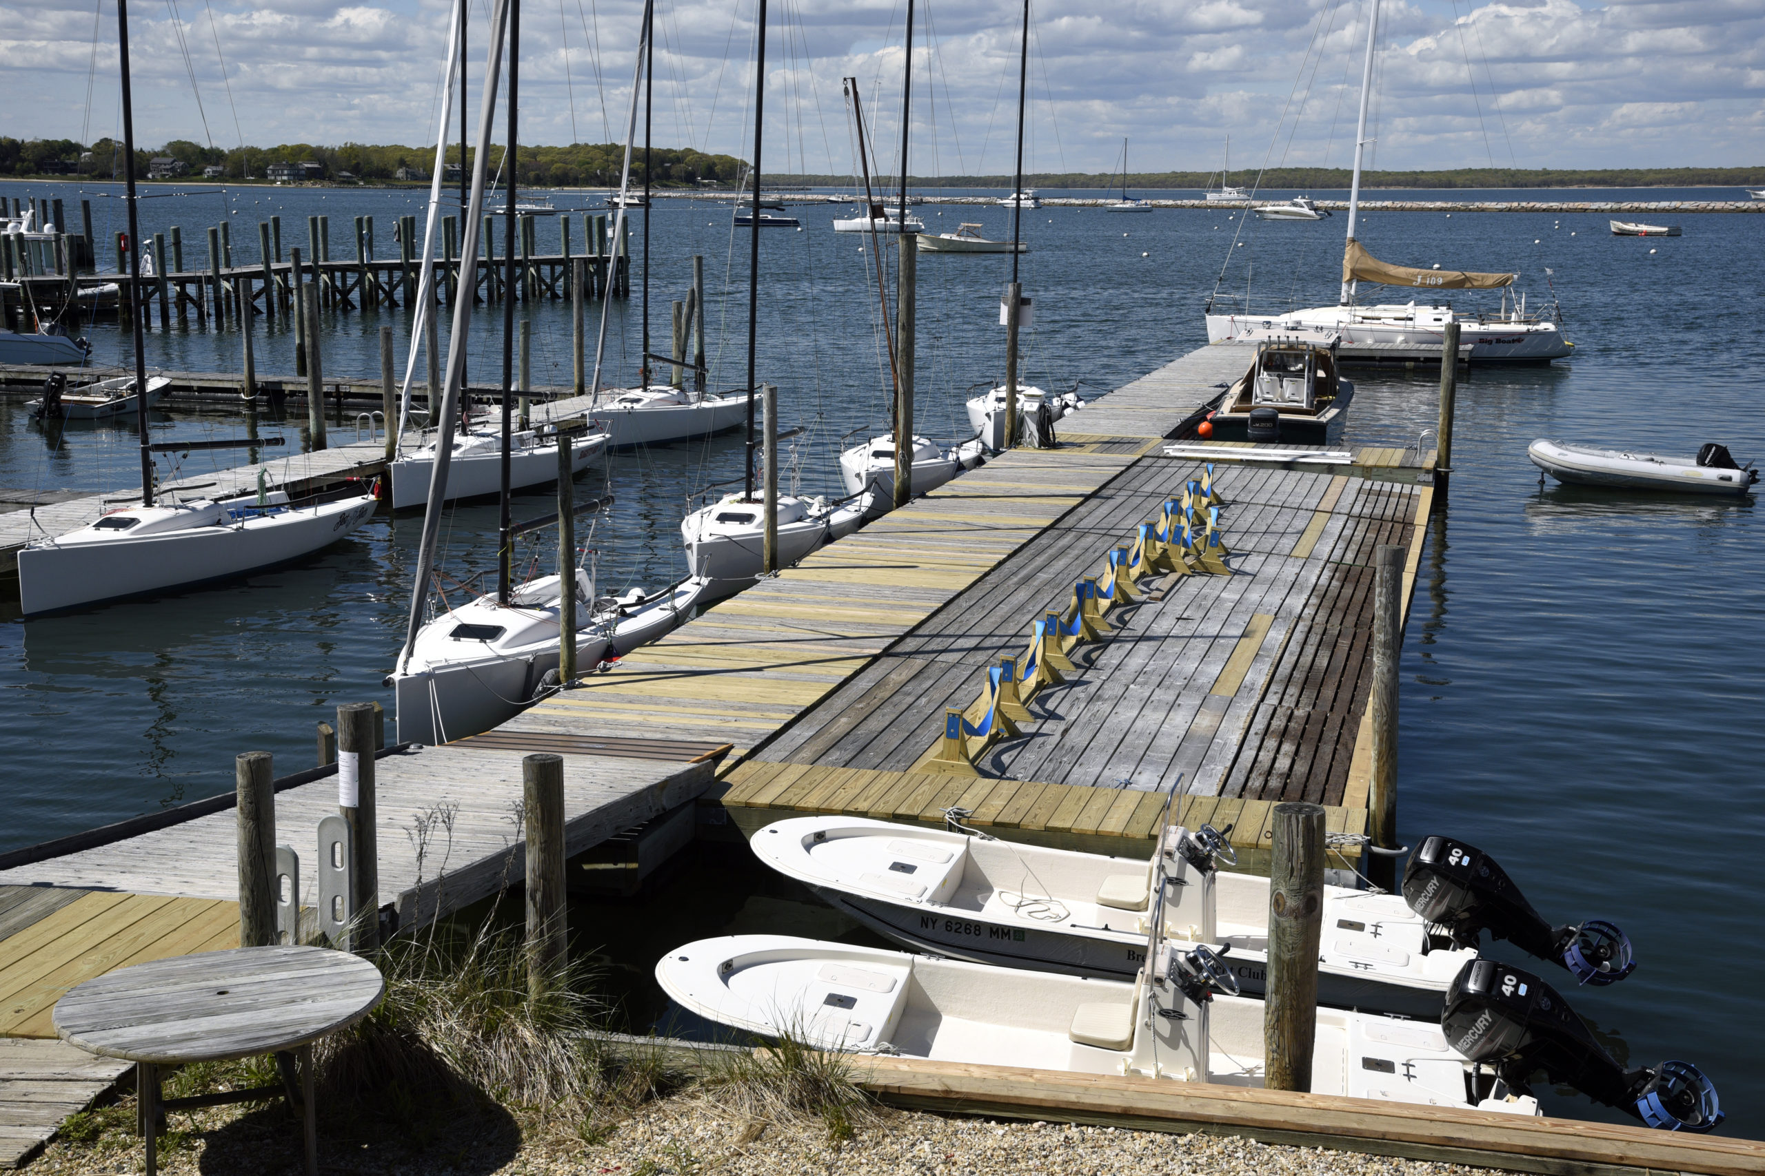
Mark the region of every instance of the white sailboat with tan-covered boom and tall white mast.
<instances>
[{"instance_id":1,"label":"white sailboat with tan-covered boom and tall white mast","mask_svg":"<svg viewBox=\"0 0 1765 1176\"><path fill-rule=\"evenodd\" d=\"M1516 273L1474 273L1467 270L1421 270L1378 261L1366 247L1356 240L1356 220L1361 210L1361 164L1366 152L1366 118L1373 86L1373 51L1378 44L1378 0L1373 0L1366 28L1366 62L1361 72L1361 116L1354 148L1354 180L1348 189L1348 240L1341 259L1341 294L1334 307L1311 307L1304 310L1276 310L1255 314L1246 305L1243 310L1216 310L1221 301L1216 293L1207 301L1207 342L1225 342L1257 335L1258 331L1280 331L1287 335L1311 335L1315 339L1336 335L1343 346L1440 346L1447 323L1460 324L1460 346L1470 347L1472 363L1544 363L1560 360L1574 351L1574 344L1562 337L1557 323L1543 316L1528 316L1525 296L1509 300L1502 294L1500 309L1493 314L1458 314L1446 303L1380 303L1357 305L1354 296L1359 282L1377 286L1401 286L1421 291L1444 289L1502 289L1514 284ZM1207 194L1213 199L1213 192Z\"/></svg>"}]
</instances>

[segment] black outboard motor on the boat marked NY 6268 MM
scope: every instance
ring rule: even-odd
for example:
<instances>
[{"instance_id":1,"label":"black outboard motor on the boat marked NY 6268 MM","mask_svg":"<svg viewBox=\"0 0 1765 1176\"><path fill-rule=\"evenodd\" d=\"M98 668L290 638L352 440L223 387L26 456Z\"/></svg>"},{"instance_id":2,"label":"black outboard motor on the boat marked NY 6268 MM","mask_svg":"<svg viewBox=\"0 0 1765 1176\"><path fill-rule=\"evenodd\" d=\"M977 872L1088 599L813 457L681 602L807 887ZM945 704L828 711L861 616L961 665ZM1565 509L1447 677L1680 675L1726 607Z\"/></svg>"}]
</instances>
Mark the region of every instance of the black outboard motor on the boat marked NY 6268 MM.
<instances>
[{"instance_id":1,"label":"black outboard motor on the boat marked NY 6268 MM","mask_svg":"<svg viewBox=\"0 0 1765 1176\"><path fill-rule=\"evenodd\" d=\"M1631 940L1588 919L1553 927L1488 853L1453 837L1426 837L1403 871L1403 901L1438 926L1454 947L1477 947L1488 931L1520 950L1562 964L1580 984L1617 984L1636 970Z\"/></svg>"}]
</instances>

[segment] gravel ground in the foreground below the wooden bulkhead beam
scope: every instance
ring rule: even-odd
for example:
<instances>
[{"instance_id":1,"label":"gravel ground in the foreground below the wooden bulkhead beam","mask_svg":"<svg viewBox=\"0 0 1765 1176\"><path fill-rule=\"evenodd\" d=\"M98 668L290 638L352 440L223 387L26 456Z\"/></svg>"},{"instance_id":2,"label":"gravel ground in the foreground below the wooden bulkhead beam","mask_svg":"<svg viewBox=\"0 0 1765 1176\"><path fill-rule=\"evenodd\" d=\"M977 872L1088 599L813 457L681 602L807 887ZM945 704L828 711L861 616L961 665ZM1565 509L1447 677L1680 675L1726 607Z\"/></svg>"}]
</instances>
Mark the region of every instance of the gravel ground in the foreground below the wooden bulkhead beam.
<instances>
[{"instance_id":1,"label":"gravel ground in the foreground below the wooden bulkhead beam","mask_svg":"<svg viewBox=\"0 0 1765 1176\"><path fill-rule=\"evenodd\" d=\"M28 1165L30 1176L143 1171L134 1104L79 1116ZM279 1105L176 1114L162 1137L161 1171L300 1172L298 1128ZM443 1114L420 1132L341 1137L321 1130L319 1169L362 1176L1043 1176L1179 1172L1184 1176L1384 1174L1488 1176L1488 1169L1393 1160L1320 1148L1260 1144L1232 1135L1167 1135L1064 1123L1015 1123L875 1109L849 1139L821 1120L764 1121L713 1093L648 1104L618 1125L582 1132L556 1118L519 1121L492 1109Z\"/></svg>"}]
</instances>

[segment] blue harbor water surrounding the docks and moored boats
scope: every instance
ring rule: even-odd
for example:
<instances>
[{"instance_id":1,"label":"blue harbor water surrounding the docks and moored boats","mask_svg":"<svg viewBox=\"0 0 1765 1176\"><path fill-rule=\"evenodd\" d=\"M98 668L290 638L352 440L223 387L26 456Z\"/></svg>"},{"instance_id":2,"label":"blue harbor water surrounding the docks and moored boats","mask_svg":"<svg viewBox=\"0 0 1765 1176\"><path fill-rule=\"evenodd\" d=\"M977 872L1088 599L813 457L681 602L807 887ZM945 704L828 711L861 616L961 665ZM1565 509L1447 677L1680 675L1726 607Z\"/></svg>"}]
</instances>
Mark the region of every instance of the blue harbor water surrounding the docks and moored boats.
<instances>
[{"instance_id":1,"label":"blue harbor water surrounding the docks and moored boats","mask_svg":"<svg viewBox=\"0 0 1765 1176\"><path fill-rule=\"evenodd\" d=\"M1541 196L1569 197L1514 194ZM334 252L341 219L415 210L402 192L254 190L235 199L238 238L263 215L252 199L282 205L284 242L288 219L298 217L304 236L307 210L328 208ZM184 224L187 242L219 215L219 197L145 205L161 222ZM798 208L803 233L768 231L764 240L761 372L780 384L785 421L814 427L801 446L805 487L831 483L840 434L879 421L884 406L874 284L858 242L828 231L835 212ZM934 231L964 219L1006 231L1004 210L927 206L921 215ZM1248 270L1260 307L1334 296L1340 219L1255 224L1248 243L1228 250L1239 227L1230 215L1025 213L1034 252L1022 270L1036 298L1031 377L1107 388L1200 346L1200 309L1227 252L1225 289L1243 291ZM1361 236L1380 257L1520 270L1534 305L1548 298L1543 270L1555 270L1578 344L1573 361L1477 370L1460 386L1458 473L1430 532L1405 647L1400 818L1412 843L1449 830L1490 850L1553 920L1624 926L1638 971L1613 989L1569 993L1571 1003L1615 1033L1633 1063L1684 1058L1705 1067L1730 1109L1728 1132L1758 1135L1765 1076L1753 964L1765 931L1737 917L1733 903L1735 880L1751 876L1765 832L1754 781L1765 760L1756 718L1765 525L1751 501L1541 490L1525 460L1527 443L1541 435L1670 453L1723 441L1742 460L1765 457L1756 409L1765 393L1765 219L1677 222L1686 236L1671 240L1611 238L1596 215L1375 213L1364 222ZM554 233L542 222L542 242ZM385 222L379 238L385 247ZM732 249L727 219L711 205L662 205L653 247L657 337L665 301L687 287L690 254L704 254L713 384L740 383L745 240ZM1006 266L1003 257L920 259L920 416L928 432L955 435L965 390L999 376L995 300ZM535 379L565 383L568 319L552 305L533 316ZM475 379L498 372L492 317L499 309L473 331ZM401 337L406 328L402 310L342 316L327 339L327 368L372 370L379 323ZM628 377L635 301L616 305L612 324L623 347L614 374ZM88 333L101 358L122 353L115 328ZM235 335L196 330L154 333L148 344L150 361L180 368L231 367L238 353ZM263 333L259 370L275 368L265 356L286 356L288 346L281 328ZM1430 381L1370 374L1347 441L1410 443L1433 423ZM238 425L166 418L155 430L233 435ZM740 437L724 437L618 457L590 474L586 483L605 480L620 495L595 534L602 575L657 582L676 573L685 495L740 469ZM132 476L125 427L71 430L51 446L21 407L0 407L0 485L127 488ZM542 502L517 506L517 517L544 513ZM492 524L489 506L454 513L450 571L491 566ZM417 527L415 518L381 517L311 566L240 587L0 624L11 719L0 735L11 769L0 848L224 790L233 755L247 748L275 751L279 770L311 763L312 725L332 705L385 698L379 677L402 631ZM1567 989L1566 977L1546 979ZM1581 1100L1555 1105L1590 1113Z\"/></svg>"}]
</instances>

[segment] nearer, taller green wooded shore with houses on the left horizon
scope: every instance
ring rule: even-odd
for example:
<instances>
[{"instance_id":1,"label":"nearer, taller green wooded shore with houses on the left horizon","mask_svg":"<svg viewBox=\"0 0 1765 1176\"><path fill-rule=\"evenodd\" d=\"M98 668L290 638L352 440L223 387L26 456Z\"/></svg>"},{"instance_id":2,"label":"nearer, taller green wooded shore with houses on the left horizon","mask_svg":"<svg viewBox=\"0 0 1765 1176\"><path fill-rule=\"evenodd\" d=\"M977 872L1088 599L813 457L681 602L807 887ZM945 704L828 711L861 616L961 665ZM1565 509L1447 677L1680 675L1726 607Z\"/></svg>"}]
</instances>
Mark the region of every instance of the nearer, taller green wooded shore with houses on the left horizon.
<instances>
[{"instance_id":1,"label":"nearer, taller green wooded shore with houses on the left horizon","mask_svg":"<svg viewBox=\"0 0 1765 1176\"><path fill-rule=\"evenodd\" d=\"M113 139L99 139L90 146L72 139L9 139L0 138L0 175L51 176L81 175L104 180L124 176L124 148ZM475 152L466 153L468 164ZM349 175L357 180L395 182L401 171L406 178L429 178L434 152L417 146L371 146L344 143L323 146L316 143L281 143L277 146L215 148L173 139L161 148L136 148L138 178L146 178L154 159L176 159L192 178L201 178L205 167L219 166L228 180L263 180L270 164L316 162L327 178ZM459 166L461 148L448 148L447 162ZM611 185L620 182L625 146L620 143L574 143L570 146L522 146L515 153L521 187L579 187ZM745 164L732 155L706 155L692 148L655 148L653 183L657 187L734 185ZM501 169L503 148L492 146L489 173ZM642 183L642 152L632 153L632 183Z\"/></svg>"}]
</instances>

